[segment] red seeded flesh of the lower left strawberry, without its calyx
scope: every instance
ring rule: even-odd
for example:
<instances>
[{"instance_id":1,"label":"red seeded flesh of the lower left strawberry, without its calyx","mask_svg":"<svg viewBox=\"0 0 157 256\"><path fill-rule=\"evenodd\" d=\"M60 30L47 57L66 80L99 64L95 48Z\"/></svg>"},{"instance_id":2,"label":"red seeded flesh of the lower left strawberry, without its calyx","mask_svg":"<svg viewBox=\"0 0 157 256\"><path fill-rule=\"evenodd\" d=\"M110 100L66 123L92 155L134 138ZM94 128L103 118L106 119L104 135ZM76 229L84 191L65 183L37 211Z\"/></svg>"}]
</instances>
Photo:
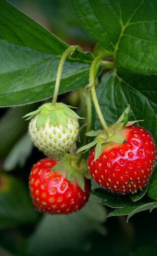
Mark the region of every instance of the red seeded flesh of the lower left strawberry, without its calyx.
<instances>
[{"instance_id":1,"label":"red seeded flesh of the lower left strawberry, without its calyx","mask_svg":"<svg viewBox=\"0 0 157 256\"><path fill-rule=\"evenodd\" d=\"M66 171L51 171L57 161L46 158L34 164L29 177L29 190L34 207L42 213L70 214L88 201L90 180L85 179L85 192L77 181L66 179Z\"/></svg>"}]
</instances>

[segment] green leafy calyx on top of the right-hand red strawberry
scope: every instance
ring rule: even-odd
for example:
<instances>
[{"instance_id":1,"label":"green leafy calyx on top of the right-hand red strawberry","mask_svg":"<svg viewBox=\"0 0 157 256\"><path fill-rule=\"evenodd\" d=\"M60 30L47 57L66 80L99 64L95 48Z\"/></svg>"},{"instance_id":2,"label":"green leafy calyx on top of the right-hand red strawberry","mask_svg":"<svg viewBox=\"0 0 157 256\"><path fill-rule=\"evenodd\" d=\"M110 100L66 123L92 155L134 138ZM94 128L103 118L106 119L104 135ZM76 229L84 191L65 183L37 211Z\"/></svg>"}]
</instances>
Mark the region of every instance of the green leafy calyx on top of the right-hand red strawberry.
<instances>
[{"instance_id":1,"label":"green leafy calyx on top of the right-hand red strawberry","mask_svg":"<svg viewBox=\"0 0 157 256\"><path fill-rule=\"evenodd\" d=\"M143 120L136 120L136 121L128 121L128 114L130 111L130 105L127 106L126 110L123 112L123 114L119 117L119 119L112 125L110 126L108 129L110 131L110 134L107 135L105 130L91 130L89 132L87 132L85 135L89 136L89 137L95 137L96 138L89 144L81 147L78 149L77 153L81 152L81 151L87 151L89 150L91 147L96 145L95 148L95 158L94 160L97 160L100 155L102 154L103 150L104 150L104 146L109 143L109 142L113 142L113 143L117 143L117 144L123 144L125 142L127 142L126 137L121 133L121 130L124 127L128 127L133 125L136 122L140 122Z\"/></svg>"}]
</instances>

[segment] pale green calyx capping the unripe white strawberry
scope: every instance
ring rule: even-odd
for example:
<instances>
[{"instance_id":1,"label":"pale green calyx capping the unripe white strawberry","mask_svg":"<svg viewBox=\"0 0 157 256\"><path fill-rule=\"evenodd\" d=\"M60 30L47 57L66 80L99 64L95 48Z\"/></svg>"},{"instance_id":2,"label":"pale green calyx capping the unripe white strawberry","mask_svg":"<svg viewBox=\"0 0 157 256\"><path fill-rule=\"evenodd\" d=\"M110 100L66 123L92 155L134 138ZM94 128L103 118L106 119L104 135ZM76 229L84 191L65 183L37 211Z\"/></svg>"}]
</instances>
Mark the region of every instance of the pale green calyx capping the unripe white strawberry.
<instances>
[{"instance_id":1,"label":"pale green calyx capping the unripe white strawberry","mask_svg":"<svg viewBox=\"0 0 157 256\"><path fill-rule=\"evenodd\" d=\"M26 114L23 118L26 118L26 120L30 120L36 114L38 114L36 128L44 125L48 118L50 118L50 122L54 127L60 124L63 127L68 128L67 117L77 120L83 119L79 117L71 108L74 107L65 105L64 103L56 103L55 105L53 105L51 102L49 102L43 104L37 110Z\"/></svg>"}]
</instances>

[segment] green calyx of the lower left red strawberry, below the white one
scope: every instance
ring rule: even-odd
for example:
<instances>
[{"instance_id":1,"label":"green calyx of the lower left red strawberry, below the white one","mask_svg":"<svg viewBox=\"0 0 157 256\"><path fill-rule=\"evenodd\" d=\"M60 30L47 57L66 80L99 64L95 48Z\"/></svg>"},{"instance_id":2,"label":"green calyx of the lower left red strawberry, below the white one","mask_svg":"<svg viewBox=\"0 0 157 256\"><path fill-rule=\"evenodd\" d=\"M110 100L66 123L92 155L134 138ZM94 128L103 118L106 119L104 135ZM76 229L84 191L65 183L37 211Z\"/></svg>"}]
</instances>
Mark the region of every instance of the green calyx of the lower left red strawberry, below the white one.
<instances>
[{"instance_id":1,"label":"green calyx of the lower left red strawberry, below the white one","mask_svg":"<svg viewBox=\"0 0 157 256\"><path fill-rule=\"evenodd\" d=\"M64 158L59 161L56 165L54 165L51 170L52 171L61 171L66 170L66 178L68 181L73 182L77 179L78 186L84 191L85 186L85 178L91 179L89 174L87 163L85 159L82 159L81 162L77 163L78 156L72 154L66 154Z\"/></svg>"}]
</instances>

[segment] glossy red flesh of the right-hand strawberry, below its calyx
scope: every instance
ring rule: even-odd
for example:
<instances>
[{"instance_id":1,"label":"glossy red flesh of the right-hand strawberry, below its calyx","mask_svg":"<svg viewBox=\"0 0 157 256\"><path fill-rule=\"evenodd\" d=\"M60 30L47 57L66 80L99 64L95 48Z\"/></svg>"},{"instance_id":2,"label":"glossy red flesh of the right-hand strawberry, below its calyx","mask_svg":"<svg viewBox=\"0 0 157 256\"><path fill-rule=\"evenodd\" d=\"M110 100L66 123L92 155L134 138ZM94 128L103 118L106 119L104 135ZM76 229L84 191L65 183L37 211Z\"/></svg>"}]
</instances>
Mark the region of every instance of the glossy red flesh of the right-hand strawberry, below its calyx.
<instances>
[{"instance_id":1,"label":"glossy red flesh of the right-hand strawberry, below its calyx","mask_svg":"<svg viewBox=\"0 0 157 256\"><path fill-rule=\"evenodd\" d=\"M88 158L92 178L106 190L118 193L137 192L148 183L156 160L156 145L151 134L138 126L121 131L127 142L108 143L99 159L95 149Z\"/></svg>"}]
</instances>

